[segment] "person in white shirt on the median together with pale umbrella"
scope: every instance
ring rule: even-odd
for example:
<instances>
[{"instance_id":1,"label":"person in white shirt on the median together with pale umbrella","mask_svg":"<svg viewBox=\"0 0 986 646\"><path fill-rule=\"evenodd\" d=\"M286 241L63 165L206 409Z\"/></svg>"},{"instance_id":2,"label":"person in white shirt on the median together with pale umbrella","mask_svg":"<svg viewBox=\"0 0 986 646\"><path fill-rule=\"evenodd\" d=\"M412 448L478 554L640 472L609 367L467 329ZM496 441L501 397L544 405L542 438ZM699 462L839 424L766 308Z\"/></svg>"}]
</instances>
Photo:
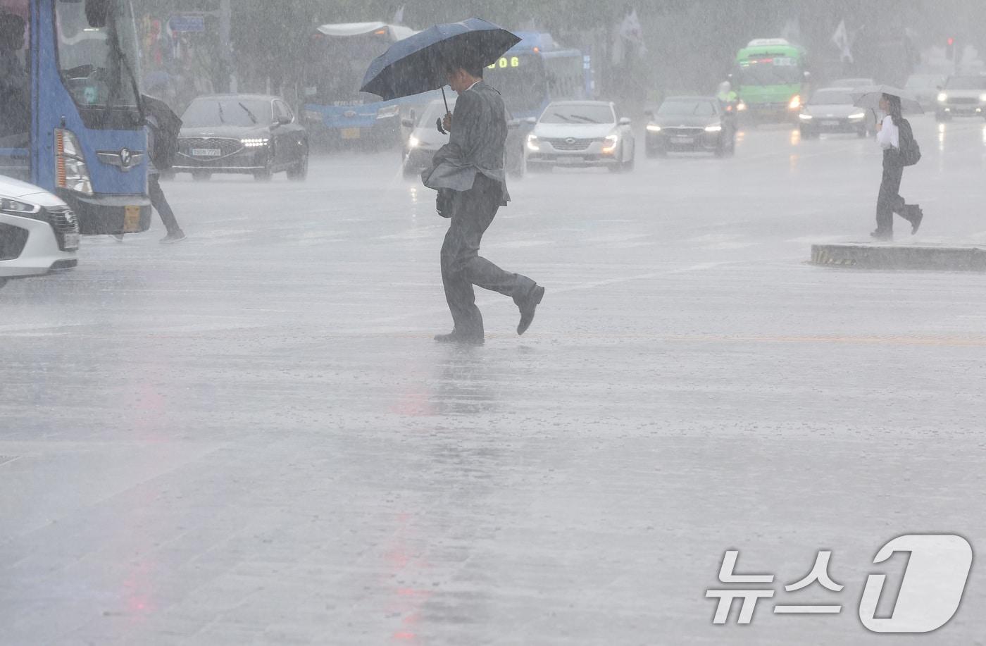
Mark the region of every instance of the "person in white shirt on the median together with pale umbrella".
<instances>
[{"instance_id":1,"label":"person in white shirt on the median together with pale umbrella","mask_svg":"<svg viewBox=\"0 0 986 646\"><path fill-rule=\"evenodd\" d=\"M883 150L883 177L877 196L877 230L870 235L880 241L893 240L893 214L896 213L911 224L911 235L918 232L924 219L924 211L917 204L906 204L900 196L900 181L904 167L913 166L921 159L921 148L914 139L910 122L902 116L909 112L922 112L921 105L902 90L877 86L863 90L856 106L879 108L884 114L877 124L877 143Z\"/></svg>"}]
</instances>

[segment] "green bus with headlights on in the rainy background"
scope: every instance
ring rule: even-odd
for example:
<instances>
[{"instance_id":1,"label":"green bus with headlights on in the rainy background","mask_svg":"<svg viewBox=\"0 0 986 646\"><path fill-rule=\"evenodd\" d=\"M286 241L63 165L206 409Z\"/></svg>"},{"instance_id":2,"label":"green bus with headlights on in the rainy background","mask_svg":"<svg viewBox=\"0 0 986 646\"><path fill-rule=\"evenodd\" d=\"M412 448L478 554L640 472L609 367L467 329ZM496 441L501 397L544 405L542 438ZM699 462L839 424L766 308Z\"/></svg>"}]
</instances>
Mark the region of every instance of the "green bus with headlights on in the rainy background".
<instances>
[{"instance_id":1,"label":"green bus with headlights on in the rainy background","mask_svg":"<svg viewBox=\"0 0 986 646\"><path fill-rule=\"evenodd\" d=\"M757 38L740 49L731 79L743 117L797 122L810 76L806 58L804 48L784 38Z\"/></svg>"}]
</instances>

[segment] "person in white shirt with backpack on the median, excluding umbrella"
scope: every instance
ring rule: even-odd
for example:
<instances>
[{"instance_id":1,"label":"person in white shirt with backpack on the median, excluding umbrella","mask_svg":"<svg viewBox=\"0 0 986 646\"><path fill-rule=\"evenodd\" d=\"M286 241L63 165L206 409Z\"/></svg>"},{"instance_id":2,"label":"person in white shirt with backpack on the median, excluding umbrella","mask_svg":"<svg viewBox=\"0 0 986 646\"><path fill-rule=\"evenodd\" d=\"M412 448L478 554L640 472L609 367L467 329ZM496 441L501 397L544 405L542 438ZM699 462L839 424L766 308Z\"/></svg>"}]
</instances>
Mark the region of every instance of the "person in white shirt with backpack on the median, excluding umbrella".
<instances>
[{"instance_id":1,"label":"person in white shirt with backpack on the median, excluding umbrella","mask_svg":"<svg viewBox=\"0 0 986 646\"><path fill-rule=\"evenodd\" d=\"M883 149L883 179L877 197L877 230L870 234L877 240L893 240L893 214L911 223L911 234L921 227L924 212L917 204L905 204L900 196L900 180L904 177L905 161L900 152L901 138L913 142L911 124L900 115L900 98L884 94L880 110L885 116L877 125L877 143Z\"/></svg>"}]
</instances>

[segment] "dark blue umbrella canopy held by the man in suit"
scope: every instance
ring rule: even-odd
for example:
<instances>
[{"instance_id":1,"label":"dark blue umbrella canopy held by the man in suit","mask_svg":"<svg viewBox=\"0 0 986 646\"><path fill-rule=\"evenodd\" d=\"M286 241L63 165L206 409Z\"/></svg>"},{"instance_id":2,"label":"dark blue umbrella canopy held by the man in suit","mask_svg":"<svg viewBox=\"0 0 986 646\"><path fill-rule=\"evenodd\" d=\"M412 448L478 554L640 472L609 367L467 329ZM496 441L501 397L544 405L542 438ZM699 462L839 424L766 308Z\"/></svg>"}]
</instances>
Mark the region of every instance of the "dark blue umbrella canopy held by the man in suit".
<instances>
[{"instance_id":1,"label":"dark blue umbrella canopy held by the man in suit","mask_svg":"<svg viewBox=\"0 0 986 646\"><path fill-rule=\"evenodd\" d=\"M520 41L478 18L436 25L390 45L370 63L360 90L384 101L438 90L447 83L446 65L491 65Z\"/></svg>"}]
</instances>

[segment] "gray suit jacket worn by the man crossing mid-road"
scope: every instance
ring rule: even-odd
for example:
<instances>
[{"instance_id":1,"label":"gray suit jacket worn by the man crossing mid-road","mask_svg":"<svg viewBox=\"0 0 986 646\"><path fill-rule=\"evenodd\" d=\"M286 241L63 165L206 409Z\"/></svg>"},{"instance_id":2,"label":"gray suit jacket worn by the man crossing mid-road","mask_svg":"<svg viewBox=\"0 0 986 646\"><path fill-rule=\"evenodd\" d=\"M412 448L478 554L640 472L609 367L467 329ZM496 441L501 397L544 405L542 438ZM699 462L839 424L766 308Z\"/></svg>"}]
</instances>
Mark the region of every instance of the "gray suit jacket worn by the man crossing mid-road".
<instances>
[{"instance_id":1,"label":"gray suit jacket worn by the man crossing mid-road","mask_svg":"<svg viewBox=\"0 0 986 646\"><path fill-rule=\"evenodd\" d=\"M503 171L507 141L507 108L500 93L483 81L458 95L449 143L435 153L432 167L421 174L429 188L468 190L481 173L503 186L503 203L510 199Z\"/></svg>"}]
</instances>

